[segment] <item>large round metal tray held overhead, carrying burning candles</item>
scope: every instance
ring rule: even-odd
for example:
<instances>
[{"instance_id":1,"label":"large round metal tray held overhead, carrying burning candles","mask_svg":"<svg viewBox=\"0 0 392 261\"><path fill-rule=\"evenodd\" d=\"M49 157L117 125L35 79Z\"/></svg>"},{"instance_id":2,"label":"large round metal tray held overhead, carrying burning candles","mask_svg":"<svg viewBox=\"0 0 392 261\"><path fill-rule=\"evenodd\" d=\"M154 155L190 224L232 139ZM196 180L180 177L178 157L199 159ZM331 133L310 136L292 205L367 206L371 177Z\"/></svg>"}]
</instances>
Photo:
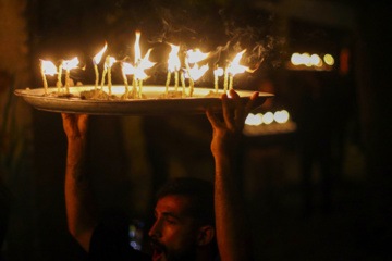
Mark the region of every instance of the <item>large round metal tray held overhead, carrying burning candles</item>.
<instances>
[{"instance_id":1,"label":"large round metal tray held overhead, carrying burning candles","mask_svg":"<svg viewBox=\"0 0 392 261\"><path fill-rule=\"evenodd\" d=\"M17 89L16 96L38 110L65 113L86 113L97 115L155 115L155 114L199 114L205 113L207 107L221 110L219 97L206 97L211 88L195 88L192 98L160 99L164 94L164 86L144 86L143 95L146 99L139 100L85 100L79 94L94 89L94 86L70 87L70 92L75 97L44 96L44 88ZM113 86L112 94L119 97L124 94L124 86ZM171 88L172 89L172 88ZM181 89L181 88L179 88ZM108 88L103 88L108 91ZM48 94L57 92L57 88L48 88ZM241 99L246 102L254 91L238 90ZM271 94L260 92L256 105L261 105Z\"/></svg>"}]
</instances>

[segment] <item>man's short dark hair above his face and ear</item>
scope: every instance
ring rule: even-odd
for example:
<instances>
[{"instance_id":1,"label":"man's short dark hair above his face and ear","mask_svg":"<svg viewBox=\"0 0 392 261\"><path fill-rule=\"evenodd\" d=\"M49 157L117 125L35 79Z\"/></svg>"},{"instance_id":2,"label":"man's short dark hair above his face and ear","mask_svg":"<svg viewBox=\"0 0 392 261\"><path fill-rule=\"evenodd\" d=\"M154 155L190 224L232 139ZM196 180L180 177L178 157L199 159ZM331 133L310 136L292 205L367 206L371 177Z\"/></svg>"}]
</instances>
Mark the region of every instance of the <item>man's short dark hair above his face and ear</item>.
<instances>
[{"instance_id":1,"label":"man's short dark hair above his face and ear","mask_svg":"<svg viewBox=\"0 0 392 261\"><path fill-rule=\"evenodd\" d=\"M192 203L187 211L203 225L215 227L213 184L207 181L180 177L168 181L158 191L157 200L166 196L185 196Z\"/></svg>"}]
</instances>

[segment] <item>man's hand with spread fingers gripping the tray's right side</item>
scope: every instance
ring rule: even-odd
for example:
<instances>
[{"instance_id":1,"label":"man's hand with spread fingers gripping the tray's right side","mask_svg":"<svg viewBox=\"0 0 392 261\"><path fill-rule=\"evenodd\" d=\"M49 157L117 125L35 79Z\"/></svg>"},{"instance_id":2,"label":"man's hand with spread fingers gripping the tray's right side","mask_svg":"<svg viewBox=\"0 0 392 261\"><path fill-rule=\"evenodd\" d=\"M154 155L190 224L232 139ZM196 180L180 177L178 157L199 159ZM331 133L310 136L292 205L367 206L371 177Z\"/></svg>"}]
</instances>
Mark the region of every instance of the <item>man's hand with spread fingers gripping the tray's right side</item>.
<instances>
[{"instance_id":1,"label":"man's hand with spread fingers gripping the tray's right side","mask_svg":"<svg viewBox=\"0 0 392 261\"><path fill-rule=\"evenodd\" d=\"M258 92L253 94L246 105L242 103L235 90L231 89L230 96L233 98L234 109L229 107L228 95L222 95L223 121L213 114L211 108L208 108L206 112L213 128L211 151L216 158L231 158L234 156L244 128L245 119L253 109Z\"/></svg>"}]
</instances>

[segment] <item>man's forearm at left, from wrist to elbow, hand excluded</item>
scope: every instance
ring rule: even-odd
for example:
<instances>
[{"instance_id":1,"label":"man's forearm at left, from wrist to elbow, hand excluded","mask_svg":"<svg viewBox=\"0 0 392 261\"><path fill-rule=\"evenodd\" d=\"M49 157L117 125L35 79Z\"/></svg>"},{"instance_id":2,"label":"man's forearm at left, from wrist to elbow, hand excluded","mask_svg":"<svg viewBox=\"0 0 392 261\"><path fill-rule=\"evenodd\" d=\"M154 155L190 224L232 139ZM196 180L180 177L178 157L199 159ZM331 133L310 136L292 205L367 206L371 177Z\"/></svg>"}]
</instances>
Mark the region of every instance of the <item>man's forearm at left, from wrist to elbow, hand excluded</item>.
<instances>
[{"instance_id":1,"label":"man's forearm at left, from wrist to elbow, hand excluded","mask_svg":"<svg viewBox=\"0 0 392 261\"><path fill-rule=\"evenodd\" d=\"M88 251L97 211L86 172L86 140L69 140L65 171L65 204L70 233Z\"/></svg>"}]
</instances>

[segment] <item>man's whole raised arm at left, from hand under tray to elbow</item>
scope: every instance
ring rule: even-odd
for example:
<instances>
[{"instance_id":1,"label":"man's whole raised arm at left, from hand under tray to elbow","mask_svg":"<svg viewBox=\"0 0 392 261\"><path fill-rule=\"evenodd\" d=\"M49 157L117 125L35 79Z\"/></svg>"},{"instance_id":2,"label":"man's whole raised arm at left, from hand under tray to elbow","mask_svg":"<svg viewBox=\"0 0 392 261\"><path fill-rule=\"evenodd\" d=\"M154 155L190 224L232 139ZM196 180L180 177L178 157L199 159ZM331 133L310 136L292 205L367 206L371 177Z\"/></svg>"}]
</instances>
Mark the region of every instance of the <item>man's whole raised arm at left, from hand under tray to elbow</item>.
<instances>
[{"instance_id":1,"label":"man's whole raised arm at left, from hand under tray to elbow","mask_svg":"<svg viewBox=\"0 0 392 261\"><path fill-rule=\"evenodd\" d=\"M86 172L86 134L88 115L62 114L68 138L65 206L70 233L88 252L91 234L98 224Z\"/></svg>"}]
</instances>

